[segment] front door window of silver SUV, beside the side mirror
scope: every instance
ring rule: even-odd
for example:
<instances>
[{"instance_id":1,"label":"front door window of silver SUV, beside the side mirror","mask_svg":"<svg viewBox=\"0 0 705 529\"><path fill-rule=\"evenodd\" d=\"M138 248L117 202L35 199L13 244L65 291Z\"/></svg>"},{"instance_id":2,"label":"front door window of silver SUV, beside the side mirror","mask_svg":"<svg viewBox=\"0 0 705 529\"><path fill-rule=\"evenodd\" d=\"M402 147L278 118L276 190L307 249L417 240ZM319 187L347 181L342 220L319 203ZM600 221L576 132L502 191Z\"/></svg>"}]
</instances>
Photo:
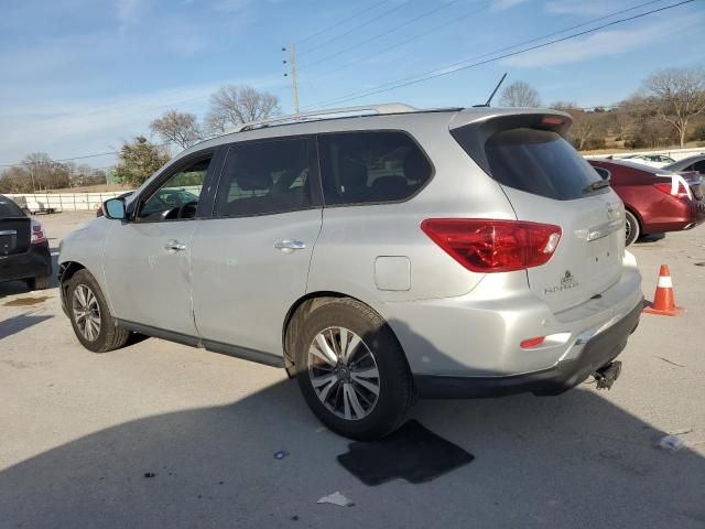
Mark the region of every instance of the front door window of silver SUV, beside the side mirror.
<instances>
[{"instance_id":1,"label":"front door window of silver SUV, beside the side mirror","mask_svg":"<svg viewBox=\"0 0 705 529\"><path fill-rule=\"evenodd\" d=\"M194 218L210 158L199 160L172 175L140 206L140 220Z\"/></svg>"}]
</instances>

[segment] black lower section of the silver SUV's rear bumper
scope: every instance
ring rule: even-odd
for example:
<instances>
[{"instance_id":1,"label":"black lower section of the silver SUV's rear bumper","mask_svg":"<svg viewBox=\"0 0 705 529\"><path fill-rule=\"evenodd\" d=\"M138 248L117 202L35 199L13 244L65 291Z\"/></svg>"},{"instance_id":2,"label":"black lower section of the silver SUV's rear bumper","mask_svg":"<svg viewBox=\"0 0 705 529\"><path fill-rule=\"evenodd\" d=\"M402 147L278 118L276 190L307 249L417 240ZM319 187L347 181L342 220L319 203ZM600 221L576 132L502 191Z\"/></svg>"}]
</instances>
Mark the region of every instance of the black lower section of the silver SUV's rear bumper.
<instances>
[{"instance_id":1,"label":"black lower section of the silver SUV's rear bumper","mask_svg":"<svg viewBox=\"0 0 705 529\"><path fill-rule=\"evenodd\" d=\"M627 345L629 335L639 325L642 303L606 331L578 341L571 359L558 361L554 367L525 375L499 377L443 377L419 375L414 377L416 391L426 399L467 399L500 397L505 395L532 392L534 395L562 393L614 360Z\"/></svg>"}]
</instances>

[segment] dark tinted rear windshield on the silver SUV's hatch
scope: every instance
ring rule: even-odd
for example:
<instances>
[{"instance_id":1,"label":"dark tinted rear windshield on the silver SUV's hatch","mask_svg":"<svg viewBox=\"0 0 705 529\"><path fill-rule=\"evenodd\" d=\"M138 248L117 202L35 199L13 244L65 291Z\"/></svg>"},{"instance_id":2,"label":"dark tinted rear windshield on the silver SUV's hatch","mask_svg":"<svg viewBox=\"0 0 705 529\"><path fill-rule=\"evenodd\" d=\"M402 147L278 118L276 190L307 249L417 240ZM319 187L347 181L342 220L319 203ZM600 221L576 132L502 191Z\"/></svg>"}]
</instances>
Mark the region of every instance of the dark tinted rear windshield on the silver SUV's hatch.
<instances>
[{"instance_id":1,"label":"dark tinted rear windshield on the silver SUV's hatch","mask_svg":"<svg viewBox=\"0 0 705 529\"><path fill-rule=\"evenodd\" d=\"M558 133L536 129L497 132L485 143L491 176L534 195L571 201L593 191L600 176Z\"/></svg>"}]
</instances>

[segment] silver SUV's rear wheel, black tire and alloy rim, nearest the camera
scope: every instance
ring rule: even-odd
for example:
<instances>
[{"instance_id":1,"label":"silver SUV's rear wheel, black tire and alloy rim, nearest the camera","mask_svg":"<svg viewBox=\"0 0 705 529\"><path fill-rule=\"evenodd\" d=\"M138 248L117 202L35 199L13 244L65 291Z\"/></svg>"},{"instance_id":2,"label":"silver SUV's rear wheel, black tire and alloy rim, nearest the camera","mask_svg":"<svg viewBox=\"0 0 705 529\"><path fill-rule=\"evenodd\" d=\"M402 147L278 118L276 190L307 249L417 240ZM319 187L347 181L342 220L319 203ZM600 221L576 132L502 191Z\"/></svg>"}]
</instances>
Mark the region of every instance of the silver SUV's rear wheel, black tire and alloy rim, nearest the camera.
<instances>
[{"instance_id":1,"label":"silver SUV's rear wheel, black tire and alloy rim, nearest the camera","mask_svg":"<svg viewBox=\"0 0 705 529\"><path fill-rule=\"evenodd\" d=\"M301 391L329 430L357 440L401 427L413 378L391 328L365 304L340 299L311 312L295 342Z\"/></svg>"}]
</instances>

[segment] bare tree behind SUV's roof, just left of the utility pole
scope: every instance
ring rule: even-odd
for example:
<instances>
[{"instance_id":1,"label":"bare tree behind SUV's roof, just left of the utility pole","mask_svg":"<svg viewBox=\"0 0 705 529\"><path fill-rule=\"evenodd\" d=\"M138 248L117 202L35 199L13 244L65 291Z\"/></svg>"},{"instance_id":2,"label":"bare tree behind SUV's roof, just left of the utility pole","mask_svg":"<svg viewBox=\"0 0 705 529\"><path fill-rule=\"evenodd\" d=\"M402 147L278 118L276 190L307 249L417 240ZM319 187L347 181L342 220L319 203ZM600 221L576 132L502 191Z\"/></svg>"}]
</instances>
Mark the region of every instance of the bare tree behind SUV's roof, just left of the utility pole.
<instances>
[{"instance_id":1,"label":"bare tree behind SUV's roof, just left of the utility pole","mask_svg":"<svg viewBox=\"0 0 705 529\"><path fill-rule=\"evenodd\" d=\"M229 127L261 121L280 112L279 99L251 86L225 85L210 96L206 118L212 133L224 133Z\"/></svg>"}]
</instances>

